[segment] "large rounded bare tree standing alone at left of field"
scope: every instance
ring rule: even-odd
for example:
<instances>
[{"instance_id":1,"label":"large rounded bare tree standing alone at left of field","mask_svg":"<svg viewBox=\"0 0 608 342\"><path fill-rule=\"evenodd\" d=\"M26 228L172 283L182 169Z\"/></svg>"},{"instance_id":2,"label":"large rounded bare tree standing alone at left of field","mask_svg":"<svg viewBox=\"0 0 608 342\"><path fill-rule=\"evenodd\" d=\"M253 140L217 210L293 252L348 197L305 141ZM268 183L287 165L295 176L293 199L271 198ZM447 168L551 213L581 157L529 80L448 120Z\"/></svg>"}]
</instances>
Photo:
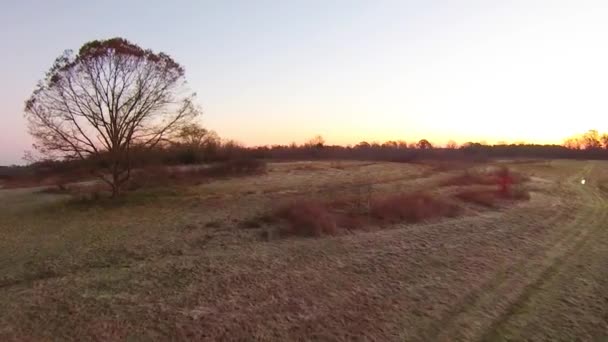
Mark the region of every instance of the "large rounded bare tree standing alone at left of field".
<instances>
[{"instance_id":1,"label":"large rounded bare tree standing alone at left of field","mask_svg":"<svg viewBox=\"0 0 608 342\"><path fill-rule=\"evenodd\" d=\"M120 194L133 147L151 148L199 114L184 68L122 38L59 56L26 101L34 147L53 159L99 158L96 174ZM105 171L105 172L104 172Z\"/></svg>"}]
</instances>

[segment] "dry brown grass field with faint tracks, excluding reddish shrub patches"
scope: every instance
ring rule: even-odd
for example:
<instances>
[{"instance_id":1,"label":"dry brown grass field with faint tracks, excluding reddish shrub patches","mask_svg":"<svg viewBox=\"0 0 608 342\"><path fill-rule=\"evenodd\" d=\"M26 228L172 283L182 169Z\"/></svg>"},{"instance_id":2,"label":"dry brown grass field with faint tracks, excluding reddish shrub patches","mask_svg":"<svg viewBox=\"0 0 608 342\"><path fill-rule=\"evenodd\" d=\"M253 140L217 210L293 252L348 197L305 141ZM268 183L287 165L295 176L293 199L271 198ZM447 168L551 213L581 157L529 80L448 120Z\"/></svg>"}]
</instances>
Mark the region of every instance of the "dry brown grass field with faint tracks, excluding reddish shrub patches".
<instances>
[{"instance_id":1,"label":"dry brown grass field with faint tracks, excluding reddish shrub patches","mask_svg":"<svg viewBox=\"0 0 608 342\"><path fill-rule=\"evenodd\" d=\"M608 339L608 163L494 164L525 175L529 198L453 181L497 165L344 161L119 203L0 190L0 340ZM268 219L421 191L458 214L319 237Z\"/></svg>"}]
</instances>

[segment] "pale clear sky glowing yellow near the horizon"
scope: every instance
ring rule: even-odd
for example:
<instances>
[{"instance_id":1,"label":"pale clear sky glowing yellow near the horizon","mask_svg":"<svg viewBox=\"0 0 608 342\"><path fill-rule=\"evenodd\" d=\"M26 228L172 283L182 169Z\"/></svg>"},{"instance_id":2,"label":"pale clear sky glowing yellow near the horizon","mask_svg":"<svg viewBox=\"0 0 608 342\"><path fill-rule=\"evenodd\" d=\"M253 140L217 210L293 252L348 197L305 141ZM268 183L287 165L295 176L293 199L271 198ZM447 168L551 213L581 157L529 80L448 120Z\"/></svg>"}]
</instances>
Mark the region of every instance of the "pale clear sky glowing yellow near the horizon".
<instances>
[{"instance_id":1,"label":"pale clear sky glowing yellow near the horizon","mask_svg":"<svg viewBox=\"0 0 608 342\"><path fill-rule=\"evenodd\" d=\"M111 37L186 68L201 123L246 145L426 138L561 143L608 131L608 1L0 4L0 165L65 49Z\"/></svg>"}]
</instances>

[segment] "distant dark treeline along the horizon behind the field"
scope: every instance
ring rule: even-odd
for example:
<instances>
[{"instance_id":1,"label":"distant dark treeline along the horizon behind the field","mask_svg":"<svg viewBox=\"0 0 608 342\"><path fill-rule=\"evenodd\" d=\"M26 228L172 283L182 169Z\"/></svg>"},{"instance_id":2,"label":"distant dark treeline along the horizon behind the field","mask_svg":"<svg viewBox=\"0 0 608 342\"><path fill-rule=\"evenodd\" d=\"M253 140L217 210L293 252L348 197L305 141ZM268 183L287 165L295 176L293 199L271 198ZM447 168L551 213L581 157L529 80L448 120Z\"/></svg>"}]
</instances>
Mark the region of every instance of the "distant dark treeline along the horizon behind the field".
<instances>
[{"instance_id":1,"label":"distant dark treeline along the horizon behind the field","mask_svg":"<svg viewBox=\"0 0 608 342\"><path fill-rule=\"evenodd\" d=\"M196 135L196 136L190 136ZM487 161L492 159L608 159L608 135L589 131L569 138L564 145L550 144L483 144L468 142L458 146L454 142L436 147L426 139L417 142L362 141L352 146L326 145L321 136L303 144L245 147L233 140L222 141L213 132L189 127L173 142L159 144L153 149L134 147L131 163L134 168L152 165L192 165L222 163L238 159L290 160L370 160L415 162L417 160ZM103 169L104 154L85 160L42 160L29 166L0 167L0 180L24 173L36 177L53 174L74 174L82 177L92 169Z\"/></svg>"}]
</instances>

